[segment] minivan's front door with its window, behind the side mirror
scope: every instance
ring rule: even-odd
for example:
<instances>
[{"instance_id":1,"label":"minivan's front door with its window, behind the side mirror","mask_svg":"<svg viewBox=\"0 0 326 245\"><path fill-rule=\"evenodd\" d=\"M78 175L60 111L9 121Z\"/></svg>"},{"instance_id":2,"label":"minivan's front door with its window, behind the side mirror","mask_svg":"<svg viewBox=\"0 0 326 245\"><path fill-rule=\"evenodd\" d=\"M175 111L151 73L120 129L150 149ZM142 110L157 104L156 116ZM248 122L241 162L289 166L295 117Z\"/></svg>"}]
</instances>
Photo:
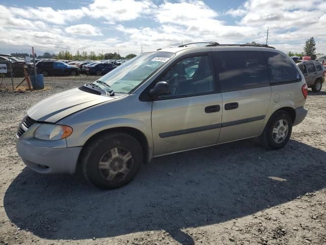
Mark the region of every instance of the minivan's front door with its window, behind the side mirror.
<instances>
[{"instance_id":1,"label":"minivan's front door with its window, behind the side mirror","mask_svg":"<svg viewBox=\"0 0 326 245\"><path fill-rule=\"evenodd\" d=\"M159 81L169 83L171 94L152 102L154 156L216 144L222 96L216 92L208 54L176 61Z\"/></svg>"}]
</instances>

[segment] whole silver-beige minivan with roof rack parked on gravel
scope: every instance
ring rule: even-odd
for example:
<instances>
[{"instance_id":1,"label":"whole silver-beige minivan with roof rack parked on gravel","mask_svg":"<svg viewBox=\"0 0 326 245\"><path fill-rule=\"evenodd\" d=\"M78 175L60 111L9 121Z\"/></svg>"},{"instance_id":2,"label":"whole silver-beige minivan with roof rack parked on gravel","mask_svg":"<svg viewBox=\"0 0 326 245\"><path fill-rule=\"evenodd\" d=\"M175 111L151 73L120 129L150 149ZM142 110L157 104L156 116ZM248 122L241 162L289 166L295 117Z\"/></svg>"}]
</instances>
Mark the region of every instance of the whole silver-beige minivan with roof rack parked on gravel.
<instances>
[{"instance_id":1,"label":"whole silver-beige minivan with roof rack parked on gravel","mask_svg":"<svg viewBox=\"0 0 326 245\"><path fill-rule=\"evenodd\" d=\"M17 152L39 173L81 169L117 188L153 157L251 137L280 149L307 114L307 93L296 64L269 46L168 48L30 108Z\"/></svg>"}]
</instances>

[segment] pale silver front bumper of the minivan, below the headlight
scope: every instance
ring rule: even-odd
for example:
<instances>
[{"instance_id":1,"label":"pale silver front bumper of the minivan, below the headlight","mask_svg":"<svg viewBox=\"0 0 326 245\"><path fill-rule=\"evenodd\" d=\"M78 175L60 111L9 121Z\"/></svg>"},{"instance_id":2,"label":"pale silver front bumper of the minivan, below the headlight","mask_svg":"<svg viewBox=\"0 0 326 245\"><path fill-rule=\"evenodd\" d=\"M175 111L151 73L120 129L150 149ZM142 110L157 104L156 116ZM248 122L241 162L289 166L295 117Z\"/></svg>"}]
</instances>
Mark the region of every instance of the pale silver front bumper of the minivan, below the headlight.
<instances>
[{"instance_id":1,"label":"pale silver front bumper of the minivan, below the headlight","mask_svg":"<svg viewBox=\"0 0 326 245\"><path fill-rule=\"evenodd\" d=\"M41 174L74 174L82 146L33 147L16 138L16 149L26 166Z\"/></svg>"}]
</instances>

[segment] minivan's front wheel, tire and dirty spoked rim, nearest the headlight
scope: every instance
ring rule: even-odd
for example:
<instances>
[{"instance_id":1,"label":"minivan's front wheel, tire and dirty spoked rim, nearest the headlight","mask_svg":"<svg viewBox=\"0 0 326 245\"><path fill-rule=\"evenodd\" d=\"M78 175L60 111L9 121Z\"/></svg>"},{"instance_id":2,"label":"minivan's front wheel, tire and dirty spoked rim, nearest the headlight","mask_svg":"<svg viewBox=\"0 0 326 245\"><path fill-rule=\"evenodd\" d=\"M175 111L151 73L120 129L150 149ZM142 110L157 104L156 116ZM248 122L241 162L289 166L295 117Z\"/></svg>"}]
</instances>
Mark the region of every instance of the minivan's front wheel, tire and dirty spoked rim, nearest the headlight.
<instances>
[{"instance_id":1,"label":"minivan's front wheel, tire and dirty spoked rim, nearest the headlight","mask_svg":"<svg viewBox=\"0 0 326 245\"><path fill-rule=\"evenodd\" d=\"M85 178L101 189L114 189L129 183L142 162L141 145L125 133L107 133L94 138L82 155Z\"/></svg>"}]
</instances>

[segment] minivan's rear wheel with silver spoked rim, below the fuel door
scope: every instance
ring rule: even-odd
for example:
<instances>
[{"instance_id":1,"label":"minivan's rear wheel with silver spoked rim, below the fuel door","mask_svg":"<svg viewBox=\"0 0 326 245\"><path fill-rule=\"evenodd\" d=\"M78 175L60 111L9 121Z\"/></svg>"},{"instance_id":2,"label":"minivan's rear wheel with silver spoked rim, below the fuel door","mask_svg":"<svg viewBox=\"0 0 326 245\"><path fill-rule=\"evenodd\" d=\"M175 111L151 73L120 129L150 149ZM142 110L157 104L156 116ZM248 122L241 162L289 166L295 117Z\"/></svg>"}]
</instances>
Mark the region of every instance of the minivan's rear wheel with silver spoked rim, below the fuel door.
<instances>
[{"instance_id":1,"label":"minivan's rear wheel with silver spoked rim, below the fuel door","mask_svg":"<svg viewBox=\"0 0 326 245\"><path fill-rule=\"evenodd\" d=\"M292 119L286 111L275 112L268 120L260 136L260 142L268 150L283 148L292 133Z\"/></svg>"}]
</instances>

